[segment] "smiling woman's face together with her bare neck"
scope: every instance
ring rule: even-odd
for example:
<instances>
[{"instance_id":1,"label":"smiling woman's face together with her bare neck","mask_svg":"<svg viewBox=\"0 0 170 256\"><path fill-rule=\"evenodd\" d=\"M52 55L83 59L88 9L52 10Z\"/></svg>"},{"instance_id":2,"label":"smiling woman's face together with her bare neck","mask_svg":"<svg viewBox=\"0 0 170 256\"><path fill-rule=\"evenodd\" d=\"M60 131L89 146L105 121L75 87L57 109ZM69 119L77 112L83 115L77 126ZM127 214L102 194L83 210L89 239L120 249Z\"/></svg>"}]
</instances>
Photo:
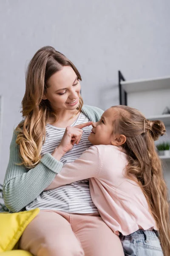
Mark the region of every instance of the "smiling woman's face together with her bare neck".
<instances>
[{"instance_id":1,"label":"smiling woman's face together with her bare neck","mask_svg":"<svg viewBox=\"0 0 170 256\"><path fill-rule=\"evenodd\" d=\"M70 125L79 115L79 111L75 114L75 108L79 108L79 102L82 102L82 98L80 96L81 86L77 74L72 67L64 66L61 70L54 73L48 81L46 81L45 86L46 90L42 99L50 102L53 110L62 116L62 122L65 121L66 110L73 113L73 117L70 119L70 122L68 122L68 125ZM61 126L59 120L54 116L49 116L48 123L57 125L61 128L63 126Z\"/></svg>"}]
</instances>

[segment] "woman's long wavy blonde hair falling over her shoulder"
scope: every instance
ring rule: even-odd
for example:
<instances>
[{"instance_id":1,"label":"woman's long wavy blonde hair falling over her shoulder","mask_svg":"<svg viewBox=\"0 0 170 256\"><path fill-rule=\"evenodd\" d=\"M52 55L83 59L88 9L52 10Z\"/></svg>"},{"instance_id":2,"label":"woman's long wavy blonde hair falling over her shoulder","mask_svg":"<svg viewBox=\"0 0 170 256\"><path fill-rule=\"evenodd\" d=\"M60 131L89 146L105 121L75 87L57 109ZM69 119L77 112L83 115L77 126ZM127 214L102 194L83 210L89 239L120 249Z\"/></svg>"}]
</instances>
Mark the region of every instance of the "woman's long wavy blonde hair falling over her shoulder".
<instances>
[{"instance_id":1,"label":"woman's long wavy blonde hair falling over her shoulder","mask_svg":"<svg viewBox=\"0 0 170 256\"><path fill-rule=\"evenodd\" d=\"M22 100L23 121L16 128L16 143L20 148L20 158L27 168L34 168L41 159L42 145L45 142L45 125L49 116L58 119L50 102L42 97L48 88L48 79L64 66L73 68L78 79L82 81L74 64L53 47L39 49L31 59L26 70L26 92ZM79 97L77 113L82 109L83 100ZM76 113L76 114L77 114ZM75 115L76 115L75 114ZM54 122L55 122L54 121Z\"/></svg>"}]
</instances>

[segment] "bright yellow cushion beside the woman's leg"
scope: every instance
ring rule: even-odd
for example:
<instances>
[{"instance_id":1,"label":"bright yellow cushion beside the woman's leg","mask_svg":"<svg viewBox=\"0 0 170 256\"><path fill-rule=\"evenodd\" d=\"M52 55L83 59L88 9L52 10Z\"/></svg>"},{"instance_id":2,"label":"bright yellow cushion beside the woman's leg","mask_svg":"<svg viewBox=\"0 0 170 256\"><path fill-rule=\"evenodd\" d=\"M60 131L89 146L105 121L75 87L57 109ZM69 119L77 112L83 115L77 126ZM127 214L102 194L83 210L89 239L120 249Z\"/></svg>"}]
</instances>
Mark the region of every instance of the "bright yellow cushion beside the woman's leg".
<instances>
[{"instance_id":1,"label":"bright yellow cushion beside the woman's leg","mask_svg":"<svg viewBox=\"0 0 170 256\"><path fill-rule=\"evenodd\" d=\"M39 212L40 209L37 208L24 212L0 213L0 256L1 252L10 251L14 248L27 225ZM15 253L16 250L13 252ZM25 251L23 251L25 254L12 254L13 252L9 255L31 255ZM2 255L6 256L8 253L10 252Z\"/></svg>"}]
</instances>

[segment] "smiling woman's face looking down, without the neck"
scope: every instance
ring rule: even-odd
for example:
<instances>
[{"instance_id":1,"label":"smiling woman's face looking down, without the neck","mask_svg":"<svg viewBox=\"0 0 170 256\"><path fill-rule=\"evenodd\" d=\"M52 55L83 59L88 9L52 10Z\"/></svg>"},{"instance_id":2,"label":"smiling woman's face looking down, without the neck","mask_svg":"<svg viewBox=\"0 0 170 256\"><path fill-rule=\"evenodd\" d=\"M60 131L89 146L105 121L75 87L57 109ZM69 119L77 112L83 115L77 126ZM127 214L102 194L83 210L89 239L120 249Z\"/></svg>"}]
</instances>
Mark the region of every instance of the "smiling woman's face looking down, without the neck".
<instances>
[{"instance_id":1,"label":"smiling woman's face looking down, without the neck","mask_svg":"<svg viewBox=\"0 0 170 256\"><path fill-rule=\"evenodd\" d=\"M75 110L79 106L80 83L70 66L54 73L47 81L48 89L43 99L48 99L54 111Z\"/></svg>"}]
</instances>

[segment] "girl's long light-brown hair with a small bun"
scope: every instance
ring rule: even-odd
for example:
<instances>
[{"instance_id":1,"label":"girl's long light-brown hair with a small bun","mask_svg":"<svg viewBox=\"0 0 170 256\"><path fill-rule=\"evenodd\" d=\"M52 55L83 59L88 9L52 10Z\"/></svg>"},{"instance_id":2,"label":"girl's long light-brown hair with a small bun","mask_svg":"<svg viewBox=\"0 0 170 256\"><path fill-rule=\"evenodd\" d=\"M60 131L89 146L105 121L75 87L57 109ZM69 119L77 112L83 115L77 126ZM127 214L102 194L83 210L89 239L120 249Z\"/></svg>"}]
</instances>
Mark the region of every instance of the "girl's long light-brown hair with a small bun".
<instances>
[{"instance_id":1,"label":"girl's long light-brown hair with a small bun","mask_svg":"<svg viewBox=\"0 0 170 256\"><path fill-rule=\"evenodd\" d=\"M133 179L135 175L137 178L159 229L164 256L170 256L168 193L161 160L154 144L154 140L158 140L166 131L164 123L147 120L134 108L122 105L112 108L118 110L117 118L113 121L113 133L126 137L123 147L129 160L127 176Z\"/></svg>"}]
</instances>

